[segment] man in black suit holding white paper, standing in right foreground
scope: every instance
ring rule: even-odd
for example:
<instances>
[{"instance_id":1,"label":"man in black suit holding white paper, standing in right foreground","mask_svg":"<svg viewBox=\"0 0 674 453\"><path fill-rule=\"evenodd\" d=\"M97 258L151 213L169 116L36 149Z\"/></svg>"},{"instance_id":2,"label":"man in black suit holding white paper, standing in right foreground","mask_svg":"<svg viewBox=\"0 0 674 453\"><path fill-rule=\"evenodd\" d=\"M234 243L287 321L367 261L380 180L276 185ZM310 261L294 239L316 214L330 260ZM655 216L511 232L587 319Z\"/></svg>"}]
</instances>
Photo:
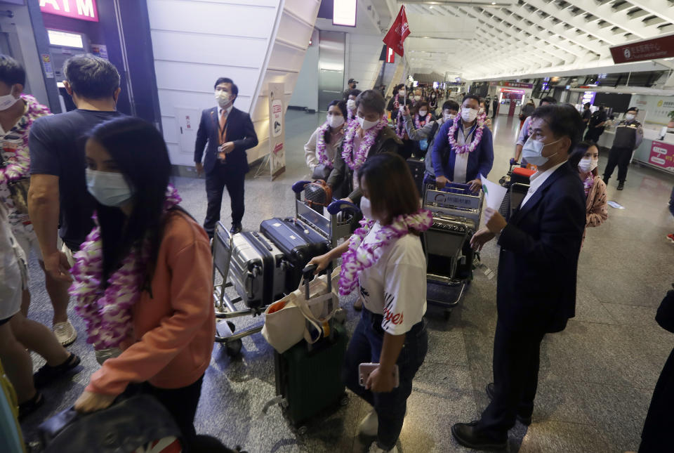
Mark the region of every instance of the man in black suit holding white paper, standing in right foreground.
<instances>
[{"instance_id":1,"label":"man in black suit holding white paper, standing in right foreground","mask_svg":"<svg viewBox=\"0 0 674 453\"><path fill-rule=\"evenodd\" d=\"M569 155L583 121L568 104L538 107L524 145L527 162L538 166L527 196L510 222L485 209L487 224L471 239L475 249L497 235L498 259L491 403L478 421L455 424L461 445L503 449L515 420L531 423L543 336L564 330L576 308L576 270L585 228L585 193L579 157Z\"/></svg>"}]
</instances>

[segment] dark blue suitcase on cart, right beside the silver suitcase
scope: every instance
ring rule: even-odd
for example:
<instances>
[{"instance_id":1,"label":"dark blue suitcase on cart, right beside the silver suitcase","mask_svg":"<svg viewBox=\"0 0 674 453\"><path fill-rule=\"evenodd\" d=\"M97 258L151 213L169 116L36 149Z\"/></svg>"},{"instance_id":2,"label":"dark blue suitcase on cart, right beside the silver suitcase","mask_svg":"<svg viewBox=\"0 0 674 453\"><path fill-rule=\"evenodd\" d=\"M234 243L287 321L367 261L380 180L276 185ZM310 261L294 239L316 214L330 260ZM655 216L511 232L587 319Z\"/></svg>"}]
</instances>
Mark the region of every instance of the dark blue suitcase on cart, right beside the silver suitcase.
<instances>
[{"instance_id":1,"label":"dark blue suitcase on cart, right beside the silver suitcase","mask_svg":"<svg viewBox=\"0 0 674 453\"><path fill-rule=\"evenodd\" d=\"M295 291L302 270L311 258L328 253L330 242L295 218L270 218L260 223L260 231L281 250L288 261L286 293Z\"/></svg>"}]
</instances>

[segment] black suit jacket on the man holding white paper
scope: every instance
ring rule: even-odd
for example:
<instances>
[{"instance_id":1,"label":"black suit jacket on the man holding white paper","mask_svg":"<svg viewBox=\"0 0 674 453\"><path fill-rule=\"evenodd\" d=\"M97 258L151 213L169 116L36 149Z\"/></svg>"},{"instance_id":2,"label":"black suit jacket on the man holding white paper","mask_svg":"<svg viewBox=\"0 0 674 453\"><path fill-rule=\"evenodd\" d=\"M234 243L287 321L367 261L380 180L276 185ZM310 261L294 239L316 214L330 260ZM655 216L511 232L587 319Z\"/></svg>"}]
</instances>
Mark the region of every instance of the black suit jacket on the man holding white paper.
<instances>
[{"instance_id":1,"label":"black suit jacket on the man holding white paper","mask_svg":"<svg viewBox=\"0 0 674 453\"><path fill-rule=\"evenodd\" d=\"M575 316L585 202L578 171L567 163L515 211L498 239L499 322L555 332Z\"/></svg>"}]
</instances>

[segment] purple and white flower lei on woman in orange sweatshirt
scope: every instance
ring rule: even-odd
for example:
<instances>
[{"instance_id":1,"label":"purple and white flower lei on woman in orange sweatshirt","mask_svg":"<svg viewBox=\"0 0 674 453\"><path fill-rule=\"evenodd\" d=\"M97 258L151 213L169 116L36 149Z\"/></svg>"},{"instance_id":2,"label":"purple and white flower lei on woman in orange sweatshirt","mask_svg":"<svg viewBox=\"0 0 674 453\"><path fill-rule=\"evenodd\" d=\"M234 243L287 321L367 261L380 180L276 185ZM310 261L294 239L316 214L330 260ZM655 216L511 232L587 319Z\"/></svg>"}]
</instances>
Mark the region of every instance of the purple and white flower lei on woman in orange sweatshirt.
<instances>
[{"instance_id":1,"label":"purple and white flower lei on woman in orange sweatshirt","mask_svg":"<svg viewBox=\"0 0 674 453\"><path fill-rule=\"evenodd\" d=\"M164 211L180 203L173 185L166 188ZM108 279L109 286L100 287L103 278L103 243L98 218L81 249L74 255L70 295L75 298L75 311L84 319L87 343L96 348L117 348L131 332L131 308L140 298L145 279L145 265L150 255L150 242L134 247L121 261L121 267Z\"/></svg>"}]
</instances>

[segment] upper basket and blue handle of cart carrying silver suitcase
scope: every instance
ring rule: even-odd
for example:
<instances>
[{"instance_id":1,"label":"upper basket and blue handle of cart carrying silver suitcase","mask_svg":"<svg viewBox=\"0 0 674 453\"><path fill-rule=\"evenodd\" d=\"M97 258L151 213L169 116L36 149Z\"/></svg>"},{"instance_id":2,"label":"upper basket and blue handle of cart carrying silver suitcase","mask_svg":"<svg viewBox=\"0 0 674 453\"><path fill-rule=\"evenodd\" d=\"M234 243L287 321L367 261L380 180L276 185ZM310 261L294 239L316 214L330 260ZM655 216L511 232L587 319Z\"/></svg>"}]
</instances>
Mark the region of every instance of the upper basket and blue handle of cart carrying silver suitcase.
<instances>
[{"instance_id":1,"label":"upper basket and blue handle of cart carrying silver suitcase","mask_svg":"<svg viewBox=\"0 0 674 453\"><path fill-rule=\"evenodd\" d=\"M330 247L337 247L342 239L350 237L352 225L359 218L360 209L353 203L342 199L333 199L325 206L323 214L305 204L302 198L305 185L311 181L298 181L293 184L295 192L295 218L312 230L315 230L330 242Z\"/></svg>"}]
</instances>

